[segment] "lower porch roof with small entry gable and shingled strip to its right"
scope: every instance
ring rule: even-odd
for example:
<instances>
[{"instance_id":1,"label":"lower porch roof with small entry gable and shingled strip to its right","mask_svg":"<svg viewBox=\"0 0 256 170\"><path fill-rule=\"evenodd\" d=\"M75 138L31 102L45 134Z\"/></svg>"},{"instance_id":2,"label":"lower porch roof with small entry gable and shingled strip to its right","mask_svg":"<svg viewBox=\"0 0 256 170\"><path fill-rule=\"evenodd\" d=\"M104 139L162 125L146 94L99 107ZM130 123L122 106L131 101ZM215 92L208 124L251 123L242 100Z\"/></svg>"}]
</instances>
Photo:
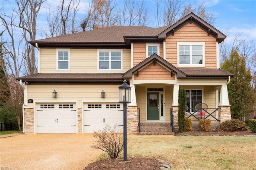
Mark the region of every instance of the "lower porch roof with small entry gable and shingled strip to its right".
<instances>
[{"instance_id":1,"label":"lower porch roof with small entry gable and shingled strip to its right","mask_svg":"<svg viewBox=\"0 0 256 170\"><path fill-rule=\"evenodd\" d=\"M124 79L132 78L132 75L147 65L152 61L158 61L168 69L176 73L177 78L228 78L228 76L234 76L233 74L223 70L223 69L178 69L162 57L157 54L153 54L146 58L144 61L140 62L138 65L134 66L130 70L123 74Z\"/></svg>"}]
</instances>

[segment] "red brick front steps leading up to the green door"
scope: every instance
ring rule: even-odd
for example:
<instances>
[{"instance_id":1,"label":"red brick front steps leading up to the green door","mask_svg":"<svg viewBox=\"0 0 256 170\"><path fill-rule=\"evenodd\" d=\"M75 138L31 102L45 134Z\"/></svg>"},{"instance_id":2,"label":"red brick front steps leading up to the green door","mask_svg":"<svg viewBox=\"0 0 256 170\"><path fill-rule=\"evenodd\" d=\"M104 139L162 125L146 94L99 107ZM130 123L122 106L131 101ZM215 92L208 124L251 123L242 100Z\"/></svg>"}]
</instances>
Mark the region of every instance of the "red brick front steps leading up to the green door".
<instances>
[{"instance_id":1,"label":"red brick front steps leading up to the green door","mask_svg":"<svg viewBox=\"0 0 256 170\"><path fill-rule=\"evenodd\" d=\"M140 123L138 135L173 135L170 123Z\"/></svg>"}]
</instances>

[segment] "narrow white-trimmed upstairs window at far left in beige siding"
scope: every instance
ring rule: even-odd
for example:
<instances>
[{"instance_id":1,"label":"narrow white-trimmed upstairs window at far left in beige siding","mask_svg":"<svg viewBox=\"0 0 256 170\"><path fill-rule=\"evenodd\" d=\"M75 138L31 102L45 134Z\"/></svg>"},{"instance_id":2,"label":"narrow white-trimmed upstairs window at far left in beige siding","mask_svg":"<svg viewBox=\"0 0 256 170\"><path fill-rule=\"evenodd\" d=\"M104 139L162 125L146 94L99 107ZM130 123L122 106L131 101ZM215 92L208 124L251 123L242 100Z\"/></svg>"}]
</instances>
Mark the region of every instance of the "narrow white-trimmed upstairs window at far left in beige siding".
<instances>
[{"instance_id":1,"label":"narrow white-trimmed upstairs window at far left in beige siding","mask_svg":"<svg viewBox=\"0 0 256 170\"><path fill-rule=\"evenodd\" d=\"M70 70L70 49L56 49L57 56L57 70Z\"/></svg>"}]
</instances>

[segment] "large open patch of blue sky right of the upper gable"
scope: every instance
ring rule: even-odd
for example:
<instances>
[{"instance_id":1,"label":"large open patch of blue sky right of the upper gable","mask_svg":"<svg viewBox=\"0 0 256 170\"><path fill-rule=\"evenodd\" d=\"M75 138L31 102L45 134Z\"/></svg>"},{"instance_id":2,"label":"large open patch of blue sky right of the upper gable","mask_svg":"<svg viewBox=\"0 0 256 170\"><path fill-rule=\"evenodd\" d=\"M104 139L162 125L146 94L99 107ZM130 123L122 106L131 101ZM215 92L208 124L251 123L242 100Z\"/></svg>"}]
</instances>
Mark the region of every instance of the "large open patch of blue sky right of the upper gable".
<instances>
[{"instance_id":1,"label":"large open patch of blue sky right of the upper gable","mask_svg":"<svg viewBox=\"0 0 256 170\"><path fill-rule=\"evenodd\" d=\"M206 5L217 16L214 26L218 30L231 29L228 37L241 32L256 39L256 0L211 0Z\"/></svg>"}]
</instances>

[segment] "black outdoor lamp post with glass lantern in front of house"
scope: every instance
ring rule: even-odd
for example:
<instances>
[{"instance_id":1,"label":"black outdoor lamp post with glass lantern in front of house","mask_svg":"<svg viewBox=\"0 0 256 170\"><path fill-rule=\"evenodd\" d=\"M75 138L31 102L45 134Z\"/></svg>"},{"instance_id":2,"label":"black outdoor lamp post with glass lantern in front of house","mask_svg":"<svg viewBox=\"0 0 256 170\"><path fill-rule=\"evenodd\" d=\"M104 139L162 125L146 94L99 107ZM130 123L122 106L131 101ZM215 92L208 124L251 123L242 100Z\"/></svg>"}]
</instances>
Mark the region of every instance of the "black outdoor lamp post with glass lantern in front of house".
<instances>
[{"instance_id":1,"label":"black outdoor lamp post with glass lantern in front of house","mask_svg":"<svg viewBox=\"0 0 256 170\"><path fill-rule=\"evenodd\" d=\"M127 161L127 103L131 103L131 87L124 80L119 86L119 103L124 107L124 161Z\"/></svg>"}]
</instances>

